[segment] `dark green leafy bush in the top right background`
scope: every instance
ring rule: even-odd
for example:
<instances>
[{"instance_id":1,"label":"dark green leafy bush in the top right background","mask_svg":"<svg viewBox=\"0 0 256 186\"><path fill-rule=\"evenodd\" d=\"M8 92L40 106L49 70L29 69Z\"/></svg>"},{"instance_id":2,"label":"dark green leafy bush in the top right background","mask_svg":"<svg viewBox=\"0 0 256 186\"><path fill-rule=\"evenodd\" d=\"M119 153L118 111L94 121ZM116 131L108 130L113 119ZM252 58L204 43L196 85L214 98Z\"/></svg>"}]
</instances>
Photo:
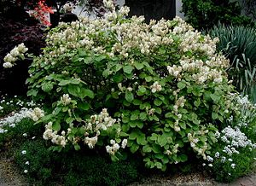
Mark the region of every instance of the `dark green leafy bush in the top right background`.
<instances>
[{"instance_id":1,"label":"dark green leafy bush in the top right background","mask_svg":"<svg viewBox=\"0 0 256 186\"><path fill-rule=\"evenodd\" d=\"M249 17L241 15L241 6L237 1L183 0L183 13L189 24L199 30L212 28L218 22L253 25Z\"/></svg>"}]
</instances>

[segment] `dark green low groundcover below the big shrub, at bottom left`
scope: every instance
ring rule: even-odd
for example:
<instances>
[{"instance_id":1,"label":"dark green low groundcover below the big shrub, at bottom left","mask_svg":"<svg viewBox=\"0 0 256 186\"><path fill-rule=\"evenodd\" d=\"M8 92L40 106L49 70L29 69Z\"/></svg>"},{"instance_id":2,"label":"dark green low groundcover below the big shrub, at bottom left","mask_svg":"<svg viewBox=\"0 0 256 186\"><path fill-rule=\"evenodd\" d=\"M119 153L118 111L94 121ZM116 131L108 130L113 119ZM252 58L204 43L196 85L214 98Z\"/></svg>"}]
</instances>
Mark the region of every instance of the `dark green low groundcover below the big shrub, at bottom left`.
<instances>
[{"instance_id":1,"label":"dark green low groundcover below the big shrub, at bottom left","mask_svg":"<svg viewBox=\"0 0 256 186\"><path fill-rule=\"evenodd\" d=\"M42 139L23 142L15 152L15 161L37 185L127 185L138 177L137 160L112 163L90 152L55 153Z\"/></svg>"}]
</instances>

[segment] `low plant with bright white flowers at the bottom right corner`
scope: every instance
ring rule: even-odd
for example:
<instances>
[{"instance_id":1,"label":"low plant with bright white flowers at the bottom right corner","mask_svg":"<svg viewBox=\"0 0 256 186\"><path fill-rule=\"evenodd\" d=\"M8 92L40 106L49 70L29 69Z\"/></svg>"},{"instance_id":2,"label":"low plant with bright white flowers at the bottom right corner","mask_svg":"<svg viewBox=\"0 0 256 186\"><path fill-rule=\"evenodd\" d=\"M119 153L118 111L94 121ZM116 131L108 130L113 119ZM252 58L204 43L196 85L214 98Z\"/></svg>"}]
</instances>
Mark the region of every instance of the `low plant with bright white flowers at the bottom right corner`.
<instances>
[{"instance_id":1,"label":"low plant with bright white flowers at the bottom right corner","mask_svg":"<svg viewBox=\"0 0 256 186\"><path fill-rule=\"evenodd\" d=\"M241 118L230 117L230 125L216 133L218 143L207 156L207 164L203 164L219 182L231 182L255 169L255 106L247 96L236 96L233 102L241 112Z\"/></svg>"}]
</instances>

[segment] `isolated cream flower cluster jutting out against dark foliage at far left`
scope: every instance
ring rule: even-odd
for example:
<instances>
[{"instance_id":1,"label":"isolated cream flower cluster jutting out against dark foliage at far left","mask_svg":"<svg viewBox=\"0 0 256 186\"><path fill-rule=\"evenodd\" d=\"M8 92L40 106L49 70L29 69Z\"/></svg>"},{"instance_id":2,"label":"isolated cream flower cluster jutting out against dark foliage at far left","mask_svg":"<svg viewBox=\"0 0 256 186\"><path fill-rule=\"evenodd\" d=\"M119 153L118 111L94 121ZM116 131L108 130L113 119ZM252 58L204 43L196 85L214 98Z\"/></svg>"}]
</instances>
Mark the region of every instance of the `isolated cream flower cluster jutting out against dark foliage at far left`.
<instances>
[{"instance_id":1,"label":"isolated cream flower cluster jutting out against dark foliage at far left","mask_svg":"<svg viewBox=\"0 0 256 186\"><path fill-rule=\"evenodd\" d=\"M12 49L4 58L3 58L3 67L10 68L14 67L15 61L22 59L24 57L24 54L26 53L28 49L26 46L22 43L18 46L15 46L14 49Z\"/></svg>"}]
</instances>

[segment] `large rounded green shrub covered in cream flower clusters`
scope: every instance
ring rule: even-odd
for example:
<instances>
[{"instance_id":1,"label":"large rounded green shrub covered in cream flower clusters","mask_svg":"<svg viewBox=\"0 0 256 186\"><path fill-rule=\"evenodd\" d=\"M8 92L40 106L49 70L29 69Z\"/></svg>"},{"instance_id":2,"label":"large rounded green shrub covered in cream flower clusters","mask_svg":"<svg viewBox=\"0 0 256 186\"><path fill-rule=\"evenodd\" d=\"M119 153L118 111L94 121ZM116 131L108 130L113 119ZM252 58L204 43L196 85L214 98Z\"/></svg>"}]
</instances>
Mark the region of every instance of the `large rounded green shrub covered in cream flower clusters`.
<instances>
[{"instance_id":1,"label":"large rounded green shrub covered in cream flower clusters","mask_svg":"<svg viewBox=\"0 0 256 186\"><path fill-rule=\"evenodd\" d=\"M131 153L163 171L192 151L207 160L216 131L238 113L224 71L229 61L215 54L218 39L180 18L125 19L129 8L104 3L105 17L52 29L44 54L34 58L28 96L53 102L40 120L48 123L44 138L56 150L104 144L117 160L128 137Z\"/></svg>"}]
</instances>

